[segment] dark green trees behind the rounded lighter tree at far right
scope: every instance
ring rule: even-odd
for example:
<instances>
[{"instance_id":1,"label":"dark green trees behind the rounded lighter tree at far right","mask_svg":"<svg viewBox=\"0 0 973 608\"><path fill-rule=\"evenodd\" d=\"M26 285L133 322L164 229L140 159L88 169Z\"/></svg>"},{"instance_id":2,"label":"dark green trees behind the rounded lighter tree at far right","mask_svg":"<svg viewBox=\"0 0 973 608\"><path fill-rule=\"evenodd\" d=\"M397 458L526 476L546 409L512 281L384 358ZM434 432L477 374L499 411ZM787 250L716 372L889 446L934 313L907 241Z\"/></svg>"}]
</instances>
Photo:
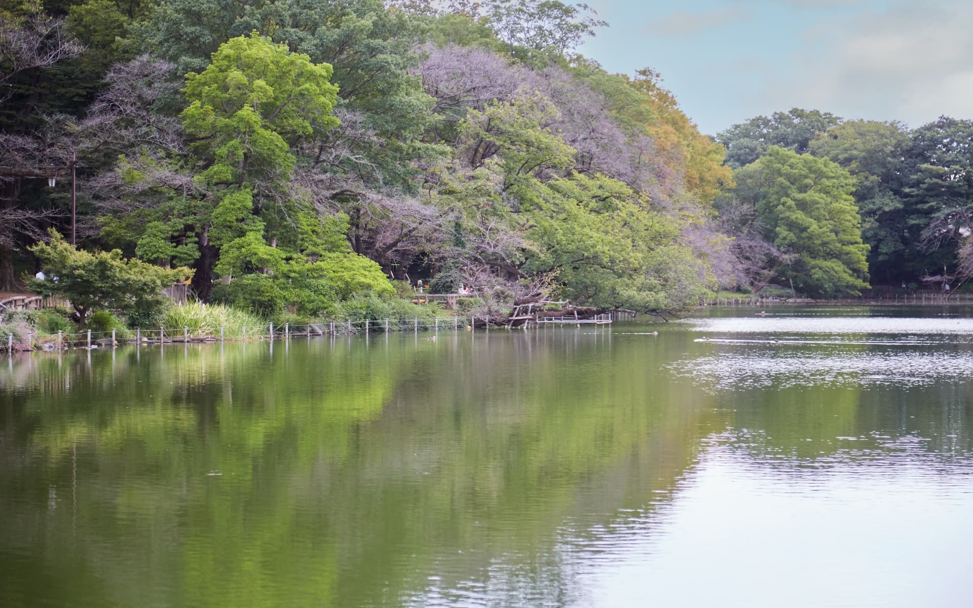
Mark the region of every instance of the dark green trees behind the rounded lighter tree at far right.
<instances>
[{"instance_id":1,"label":"dark green trees behind the rounded lighter tree at far right","mask_svg":"<svg viewBox=\"0 0 973 608\"><path fill-rule=\"evenodd\" d=\"M842 173L861 218L855 230L869 246L873 283L941 289L944 283L955 287L973 275L973 121L942 117L910 129L896 122L844 121L795 108L733 125L717 140L726 145L727 164L740 183L735 192L721 196L717 207L730 231L773 236L778 249L760 254L767 259L777 256L779 264L788 237L779 228L768 232L775 224L766 221L766 208L762 212L760 206L768 193L755 192L744 182L752 184L762 167L775 163L772 159L802 155L806 164L827 163ZM810 171L794 175L812 179ZM849 216L849 230L852 222ZM859 262L855 256L855 263L846 267L858 268L856 276L864 277Z\"/></svg>"}]
</instances>

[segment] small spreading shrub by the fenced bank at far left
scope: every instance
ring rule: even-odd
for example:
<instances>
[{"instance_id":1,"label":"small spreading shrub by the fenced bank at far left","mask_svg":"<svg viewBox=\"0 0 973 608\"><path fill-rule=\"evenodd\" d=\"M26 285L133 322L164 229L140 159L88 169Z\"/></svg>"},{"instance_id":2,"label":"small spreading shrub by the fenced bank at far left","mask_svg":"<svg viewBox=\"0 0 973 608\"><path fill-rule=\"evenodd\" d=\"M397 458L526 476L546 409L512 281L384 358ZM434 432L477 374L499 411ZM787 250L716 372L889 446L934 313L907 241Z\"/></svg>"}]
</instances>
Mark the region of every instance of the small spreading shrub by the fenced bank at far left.
<instances>
[{"instance_id":1,"label":"small spreading shrub by the fenced bank at far left","mask_svg":"<svg viewBox=\"0 0 973 608\"><path fill-rule=\"evenodd\" d=\"M76 249L51 231L50 243L38 243L30 251L40 260L47 280L30 279L32 290L56 295L74 306L82 325L88 313L119 308L125 312L161 307L162 289L192 272L188 268L159 268L138 260L123 260L122 252Z\"/></svg>"}]
</instances>

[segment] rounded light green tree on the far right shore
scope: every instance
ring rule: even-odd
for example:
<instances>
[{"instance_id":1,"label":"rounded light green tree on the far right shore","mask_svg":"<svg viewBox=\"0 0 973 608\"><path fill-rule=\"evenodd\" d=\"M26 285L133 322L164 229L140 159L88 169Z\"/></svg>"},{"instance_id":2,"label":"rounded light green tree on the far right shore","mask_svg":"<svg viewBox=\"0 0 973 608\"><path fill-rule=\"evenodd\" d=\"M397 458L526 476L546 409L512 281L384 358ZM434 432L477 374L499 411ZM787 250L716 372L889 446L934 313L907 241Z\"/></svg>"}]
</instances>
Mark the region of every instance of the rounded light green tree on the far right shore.
<instances>
[{"instance_id":1,"label":"rounded light green tree on the far right shore","mask_svg":"<svg viewBox=\"0 0 973 608\"><path fill-rule=\"evenodd\" d=\"M812 297L858 295L868 287L868 245L847 170L827 159L773 146L737 171L739 196L753 204L768 239L789 257L777 271Z\"/></svg>"}]
</instances>

